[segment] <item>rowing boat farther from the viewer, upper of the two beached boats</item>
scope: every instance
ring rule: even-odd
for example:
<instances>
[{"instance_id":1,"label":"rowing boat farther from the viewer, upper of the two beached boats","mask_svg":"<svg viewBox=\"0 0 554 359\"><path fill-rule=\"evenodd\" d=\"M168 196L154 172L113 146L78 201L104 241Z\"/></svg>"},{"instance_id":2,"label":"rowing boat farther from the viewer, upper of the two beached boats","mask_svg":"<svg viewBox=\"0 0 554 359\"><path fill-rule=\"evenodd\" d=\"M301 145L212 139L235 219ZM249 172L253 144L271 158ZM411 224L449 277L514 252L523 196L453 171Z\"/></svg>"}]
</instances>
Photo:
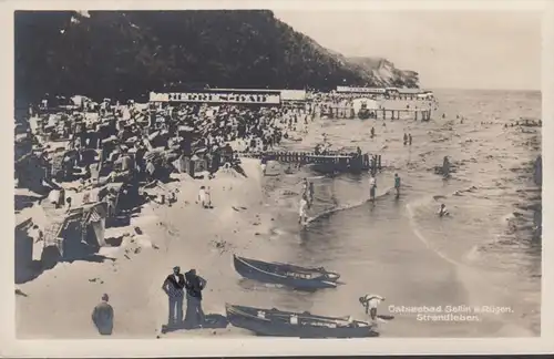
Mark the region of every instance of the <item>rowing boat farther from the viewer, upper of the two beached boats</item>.
<instances>
[{"instance_id":1,"label":"rowing boat farther from the viewer, upper of the two beached boats","mask_svg":"<svg viewBox=\"0 0 554 359\"><path fill-rule=\"evenodd\" d=\"M257 266L253 265L246 258L234 257L235 270L247 279L254 279L257 281L284 285L287 287L296 288L296 289L325 289L325 288L336 288L338 279L338 275L331 274L332 276L328 277L325 274L321 274L320 277L317 278L294 278L291 276L284 276L276 273L263 270Z\"/></svg>"}]
</instances>

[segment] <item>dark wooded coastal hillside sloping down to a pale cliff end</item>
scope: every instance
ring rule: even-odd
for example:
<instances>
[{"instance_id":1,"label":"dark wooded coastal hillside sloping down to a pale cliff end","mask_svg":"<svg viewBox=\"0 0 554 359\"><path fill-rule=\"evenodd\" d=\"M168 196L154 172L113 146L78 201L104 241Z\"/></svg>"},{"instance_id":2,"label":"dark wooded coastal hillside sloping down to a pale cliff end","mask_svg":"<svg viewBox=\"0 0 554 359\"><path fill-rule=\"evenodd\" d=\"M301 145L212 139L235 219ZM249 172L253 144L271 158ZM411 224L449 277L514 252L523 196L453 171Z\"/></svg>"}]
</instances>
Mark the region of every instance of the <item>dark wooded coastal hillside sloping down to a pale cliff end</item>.
<instances>
[{"instance_id":1,"label":"dark wooded coastal hillside sloping down to a pale cliff end","mask_svg":"<svg viewBox=\"0 0 554 359\"><path fill-rule=\"evenodd\" d=\"M16 98L44 93L138 99L184 83L331 90L418 86L417 73L378 69L319 45L271 11L18 11Z\"/></svg>"}]
</instances>

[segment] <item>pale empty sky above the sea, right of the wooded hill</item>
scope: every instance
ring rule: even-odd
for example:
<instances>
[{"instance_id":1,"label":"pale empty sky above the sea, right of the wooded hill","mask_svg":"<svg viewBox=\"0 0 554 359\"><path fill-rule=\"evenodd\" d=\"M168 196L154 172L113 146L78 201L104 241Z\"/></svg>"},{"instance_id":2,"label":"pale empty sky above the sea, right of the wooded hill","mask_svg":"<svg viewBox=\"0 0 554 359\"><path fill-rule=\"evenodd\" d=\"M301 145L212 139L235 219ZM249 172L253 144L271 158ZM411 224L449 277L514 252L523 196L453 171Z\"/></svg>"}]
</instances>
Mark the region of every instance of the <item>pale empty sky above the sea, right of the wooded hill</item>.
<instances>
[{"instance_id":1,"label":"pale empty sky above the sea, right of the wooded hill","mask_svg":"<svg viewBox=\"0 0 554 359\"><path fill-rule=\"evenodd\" d=\"M541 14L509 11L274 11L319 44L381 57L422 88L541 89Z\"/></svg>"}]
</instances>

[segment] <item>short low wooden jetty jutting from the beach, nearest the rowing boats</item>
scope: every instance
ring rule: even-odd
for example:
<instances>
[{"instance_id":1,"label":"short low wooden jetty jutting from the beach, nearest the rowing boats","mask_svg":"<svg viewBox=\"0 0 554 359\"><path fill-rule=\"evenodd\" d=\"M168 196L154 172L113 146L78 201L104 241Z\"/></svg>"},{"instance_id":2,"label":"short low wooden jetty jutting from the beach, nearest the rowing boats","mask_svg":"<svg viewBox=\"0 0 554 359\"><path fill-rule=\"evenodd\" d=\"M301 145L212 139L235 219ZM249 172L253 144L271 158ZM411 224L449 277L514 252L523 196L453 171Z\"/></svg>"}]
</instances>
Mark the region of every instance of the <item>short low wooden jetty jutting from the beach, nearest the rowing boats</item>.
<instances>
[{"instance_id":1,"label":"short low wooden jetty jutting from the beach, nearest the rowing boats","mask_svg":"<svg viewBox=\"0 0 554 359\"><path fill-rule=\"evenodd\" d=\"M280 163L309 165L317 172L367 172L376 173L382 168L381 155L327 152L243 152L243 157L277 161Z\"/></svg>"}]
</instances>

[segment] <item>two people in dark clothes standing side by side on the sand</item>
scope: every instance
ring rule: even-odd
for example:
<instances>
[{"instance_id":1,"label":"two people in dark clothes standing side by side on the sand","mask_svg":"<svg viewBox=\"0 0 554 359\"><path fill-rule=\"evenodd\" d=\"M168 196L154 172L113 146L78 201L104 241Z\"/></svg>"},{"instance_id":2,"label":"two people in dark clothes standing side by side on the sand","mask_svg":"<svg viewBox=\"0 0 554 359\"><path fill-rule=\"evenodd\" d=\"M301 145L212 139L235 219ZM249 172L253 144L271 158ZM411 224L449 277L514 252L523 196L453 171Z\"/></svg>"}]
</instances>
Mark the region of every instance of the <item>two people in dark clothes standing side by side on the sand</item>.
<instances>
[{"instance_id":1,"label":"two people in dark clothes standing side by side on the sand","mask_svg":"<svg viewBox=\"0 0 554 359\"><path fill-rule=\"evenodd\" d=\"M181 274L179 267L173 268L173 274L165 278L162 289L170 299L170 318L167 326L185 328L202 328L204 324L204 311L202 310L202 290L206 287L206 280L191 269L185 275ZM185 293L186 291L186 293ZM183 300L186 295L186 315L183 321Z\"/></svg>"}]
</instances>

